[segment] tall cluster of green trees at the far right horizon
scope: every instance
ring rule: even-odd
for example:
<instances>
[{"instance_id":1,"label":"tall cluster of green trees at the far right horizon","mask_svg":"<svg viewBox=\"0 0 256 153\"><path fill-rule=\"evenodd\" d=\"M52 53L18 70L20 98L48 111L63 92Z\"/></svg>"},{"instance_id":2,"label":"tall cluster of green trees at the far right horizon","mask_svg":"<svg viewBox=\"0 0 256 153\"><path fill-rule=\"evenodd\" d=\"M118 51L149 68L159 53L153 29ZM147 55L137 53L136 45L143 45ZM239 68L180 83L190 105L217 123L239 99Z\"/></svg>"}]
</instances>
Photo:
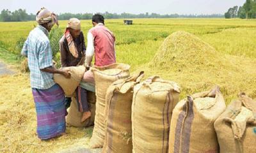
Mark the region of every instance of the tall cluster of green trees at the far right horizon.
<instances>
[{"instance_id":1,"label":"tall cluster of green trees at the far right horizon","mask_svg":"<svg viewBox=\"0 0 256 153\"><path fill-rule=\"evenodd\" d=\"M243 6L234 6L225 13L225 18L256 18L256 0L246 0Z\"/></svg>"}]
</instances>

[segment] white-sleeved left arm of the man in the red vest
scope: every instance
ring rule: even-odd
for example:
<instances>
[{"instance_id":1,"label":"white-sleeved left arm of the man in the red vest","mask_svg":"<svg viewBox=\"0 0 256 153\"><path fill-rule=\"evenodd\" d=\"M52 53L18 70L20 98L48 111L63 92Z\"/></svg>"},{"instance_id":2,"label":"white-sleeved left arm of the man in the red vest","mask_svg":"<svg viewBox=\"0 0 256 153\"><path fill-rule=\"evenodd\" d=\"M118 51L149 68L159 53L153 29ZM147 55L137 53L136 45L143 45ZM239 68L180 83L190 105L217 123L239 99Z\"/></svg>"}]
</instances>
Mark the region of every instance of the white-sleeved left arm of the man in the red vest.
<instances>
[{"instance_id":1,"label":"white-sleeved left arm of the man in the red vest","mask_svg":"<svg viewBox=\"0 0 256 153\"><path fill-rule=\"evenodd\" d=\"M90 66L92 63L92 58L95 52L94 48L94 38L92 33L87 34L87 50L86 50L86 58L85 58L85 65Z\"/></svg>"}]
</instances>

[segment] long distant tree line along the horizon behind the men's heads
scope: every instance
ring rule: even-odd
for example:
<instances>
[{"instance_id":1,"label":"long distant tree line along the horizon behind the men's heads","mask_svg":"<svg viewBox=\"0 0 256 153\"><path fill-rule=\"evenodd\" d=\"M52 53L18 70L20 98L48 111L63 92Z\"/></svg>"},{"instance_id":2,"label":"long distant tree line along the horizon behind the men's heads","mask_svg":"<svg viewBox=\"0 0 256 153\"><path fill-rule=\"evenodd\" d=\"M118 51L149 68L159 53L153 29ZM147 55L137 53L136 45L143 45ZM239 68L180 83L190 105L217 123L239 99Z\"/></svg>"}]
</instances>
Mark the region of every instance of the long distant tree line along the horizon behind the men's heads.
<instances>
[{"instance_id":1,"label":"long distant tree line along the horizon behind the men's heads","mask_svg":"<svg viewBox=\"0 0 256 153\"><path fill-rule=\"evenodd\" d=\"M138 15L132 13L109 13L106 11L105 13L100 13L105 18L223 18L224 16L221 14L212 14L212 15L179 15L179 14L171 14L171 15L160 15L157 13L140 13ZM58 15L59 20L68 20L69 18L79 18L80 20L92 19L93 13L60 13ZM0 14L0 21L3 22L19 22L19 21L28 21L35 20L36 15L32 13L28 14L26 10L2 10Z\"/></svg>"}]
</instances>

